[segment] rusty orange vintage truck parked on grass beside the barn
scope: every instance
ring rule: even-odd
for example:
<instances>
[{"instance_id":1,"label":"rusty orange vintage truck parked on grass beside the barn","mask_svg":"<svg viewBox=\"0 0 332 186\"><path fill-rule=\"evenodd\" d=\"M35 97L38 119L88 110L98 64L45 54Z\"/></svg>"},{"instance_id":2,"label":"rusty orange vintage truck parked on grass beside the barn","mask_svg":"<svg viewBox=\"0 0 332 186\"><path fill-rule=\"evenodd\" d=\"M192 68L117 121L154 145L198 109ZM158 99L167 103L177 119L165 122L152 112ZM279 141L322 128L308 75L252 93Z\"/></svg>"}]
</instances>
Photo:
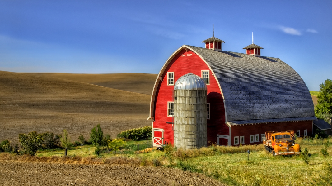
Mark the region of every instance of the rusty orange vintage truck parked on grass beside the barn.
<instances>
[{"instance_id":1,"label":"rusty orange vintage truck parked on grass beside the barn","mask_svg":"<svg viewBox=\"0 0 332 186\"><path fill-rule=\"evenodd\" d=\"M301 149L299 144L294 142L294 131L272 131L265 132L263 137L263 144L265 149L272 152L273 156L276 155L297 155L300 154Z\"/></svg>"}]
</instances>

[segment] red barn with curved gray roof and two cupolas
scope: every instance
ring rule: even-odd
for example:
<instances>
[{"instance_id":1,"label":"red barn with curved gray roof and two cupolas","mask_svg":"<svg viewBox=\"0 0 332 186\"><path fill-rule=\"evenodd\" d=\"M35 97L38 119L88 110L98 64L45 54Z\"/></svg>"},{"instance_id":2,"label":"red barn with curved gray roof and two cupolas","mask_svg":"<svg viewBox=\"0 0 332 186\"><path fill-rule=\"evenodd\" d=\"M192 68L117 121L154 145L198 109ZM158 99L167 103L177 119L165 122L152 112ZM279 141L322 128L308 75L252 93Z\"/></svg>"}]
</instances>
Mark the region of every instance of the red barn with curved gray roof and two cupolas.
<instances>
[{"instance_id":1,"label":"red barn with curved gray roof and two cupolas","mask_svg":"<svg viewBox=\"0 0 332 186\"><path fill-rule=\"evenodd\" d=\"M207 85L207 141L218 145L262 143L266 131L313 134L314 106L302 78L278 58L261 56L251 44L246 54L221 50L215 37L205 48L183 45L161 68L150 103L153 143L174 143L174 84L193 73ZM207 144L208 145L208 144Z\"/></svg>"}]
</instances>

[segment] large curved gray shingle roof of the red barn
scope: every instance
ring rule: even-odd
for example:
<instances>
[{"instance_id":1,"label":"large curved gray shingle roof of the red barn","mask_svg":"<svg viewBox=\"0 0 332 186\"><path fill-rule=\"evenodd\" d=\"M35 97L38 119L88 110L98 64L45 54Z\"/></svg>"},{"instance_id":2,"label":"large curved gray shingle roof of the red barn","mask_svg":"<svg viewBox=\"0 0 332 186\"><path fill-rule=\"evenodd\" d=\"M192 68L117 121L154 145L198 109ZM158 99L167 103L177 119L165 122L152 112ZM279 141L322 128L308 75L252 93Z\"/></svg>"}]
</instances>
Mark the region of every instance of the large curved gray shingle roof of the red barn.
<instances>
[{"instance_id":1,"label":"large curved gray shingle roof of the red barn","mask_svg":"<svg viewBox=\"0 0 332 186\"><path fill-rule=\"evenodd\" d=\"M213 70L227 121L315 116L304 81L280 59L184 46L201 55Z\"/></svg>"}]
</instances>

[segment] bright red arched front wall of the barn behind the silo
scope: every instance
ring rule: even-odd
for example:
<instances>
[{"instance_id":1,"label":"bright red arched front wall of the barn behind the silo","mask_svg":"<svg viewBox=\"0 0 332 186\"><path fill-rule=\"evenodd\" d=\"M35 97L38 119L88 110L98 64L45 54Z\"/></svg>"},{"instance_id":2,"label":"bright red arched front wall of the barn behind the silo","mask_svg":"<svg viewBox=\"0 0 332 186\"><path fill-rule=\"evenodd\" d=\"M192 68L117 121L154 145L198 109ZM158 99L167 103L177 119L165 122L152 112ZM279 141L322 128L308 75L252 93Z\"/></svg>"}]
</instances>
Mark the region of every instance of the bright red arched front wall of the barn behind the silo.
<instances>
[{"instance_id":1,"label":"bright red arched front wall of the barn behind the silo","mask_svg":"<svg viewBox=\"0 0 332 186\"><path fill-rule=\"evenodd\" d=\"M191 50L186 52L183 49L172 59L162 74L162 82L159 83L156 92L153 128L164 129L164 143L165 141L171 144L174 142L172 124L166 123L173 122L173 118L167 116L167 102L173 101L172 95L174 89L174 85L167 85L167 72L174 72L174 82L176 82L179 77L189 72L202 77L202 70L210 69L194 52ZM207 85L207 102L210 103L211 119L207 120L207 141L216 143L216 135L229 135L229 128L225 124L225 110L221 92L211 70L209 77L210 83Z\"/></svg>"}]
</instances>

